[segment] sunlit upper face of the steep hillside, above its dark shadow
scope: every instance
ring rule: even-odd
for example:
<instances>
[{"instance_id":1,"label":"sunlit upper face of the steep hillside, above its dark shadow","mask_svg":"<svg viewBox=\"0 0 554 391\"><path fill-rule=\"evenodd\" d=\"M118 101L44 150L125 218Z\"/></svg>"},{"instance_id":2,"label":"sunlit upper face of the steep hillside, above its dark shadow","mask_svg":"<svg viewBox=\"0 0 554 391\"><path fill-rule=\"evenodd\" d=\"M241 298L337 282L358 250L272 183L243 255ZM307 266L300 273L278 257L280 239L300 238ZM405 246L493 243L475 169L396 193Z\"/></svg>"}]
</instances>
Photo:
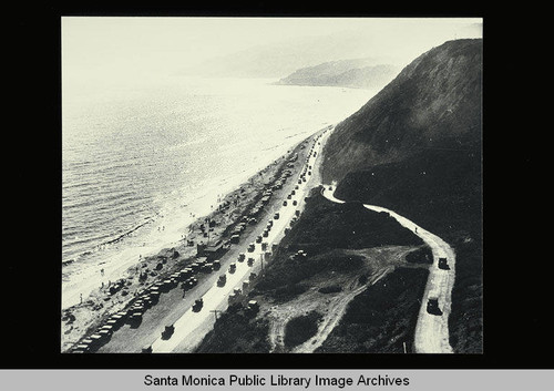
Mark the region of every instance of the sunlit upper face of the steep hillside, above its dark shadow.
<instances>
[{"instance_id":1,"label":"sunlit upper face of the steep hillside, above its dark shadow","mask_svg":"<svg viewBox=\"0 0 554 391\"><path fill-rule=\"evenodd\" d=\"M425 148L479 147L481 69L480 39L449 41L420 55L337 126L325 148L324 181Z\"/></svg>"}]
</instances>

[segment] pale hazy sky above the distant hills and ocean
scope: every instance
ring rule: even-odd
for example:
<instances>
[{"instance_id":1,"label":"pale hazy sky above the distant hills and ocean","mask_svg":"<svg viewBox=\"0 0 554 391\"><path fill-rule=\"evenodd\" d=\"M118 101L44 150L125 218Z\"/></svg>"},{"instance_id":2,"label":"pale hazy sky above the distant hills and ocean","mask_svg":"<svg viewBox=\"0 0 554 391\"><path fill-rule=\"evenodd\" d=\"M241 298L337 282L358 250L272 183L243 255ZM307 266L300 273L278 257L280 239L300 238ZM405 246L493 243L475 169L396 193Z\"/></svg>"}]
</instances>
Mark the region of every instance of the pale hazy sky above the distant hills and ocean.
<instances>
[{"instance_id":1,"label":"pale hazy sky above the distant hills and ocean","mask_svg":"<svg viewBox=\"0 0 554 391\"><path fill-rule=\"evenodd\" d=\"M482 35L482 19L399 18L62 18L62 75L96 79L170 74L255 45L355 34L376 55L411 61L455 38Z\"/></svg>"}]
</instances>

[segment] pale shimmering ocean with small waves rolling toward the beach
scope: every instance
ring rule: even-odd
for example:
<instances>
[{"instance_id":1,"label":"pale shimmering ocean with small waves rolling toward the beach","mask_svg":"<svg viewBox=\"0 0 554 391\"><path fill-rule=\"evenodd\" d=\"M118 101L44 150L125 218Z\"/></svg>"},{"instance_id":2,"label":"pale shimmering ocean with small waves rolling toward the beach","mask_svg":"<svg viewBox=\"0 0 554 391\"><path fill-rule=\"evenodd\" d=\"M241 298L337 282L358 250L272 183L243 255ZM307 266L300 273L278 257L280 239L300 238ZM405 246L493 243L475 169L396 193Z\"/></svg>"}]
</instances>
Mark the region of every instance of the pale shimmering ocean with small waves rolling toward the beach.
<instances>
[{"instance_id":1,"label":"pale shimmering ocean with small waves rolling toward the beach","mask_svg":"<svg viewBox=\"0 0 554 391\"><path fill-rule=\"evenodd\" d=\"M62 89L62 307L376 91L172 76Z\"/></svg>"}]
</instances>

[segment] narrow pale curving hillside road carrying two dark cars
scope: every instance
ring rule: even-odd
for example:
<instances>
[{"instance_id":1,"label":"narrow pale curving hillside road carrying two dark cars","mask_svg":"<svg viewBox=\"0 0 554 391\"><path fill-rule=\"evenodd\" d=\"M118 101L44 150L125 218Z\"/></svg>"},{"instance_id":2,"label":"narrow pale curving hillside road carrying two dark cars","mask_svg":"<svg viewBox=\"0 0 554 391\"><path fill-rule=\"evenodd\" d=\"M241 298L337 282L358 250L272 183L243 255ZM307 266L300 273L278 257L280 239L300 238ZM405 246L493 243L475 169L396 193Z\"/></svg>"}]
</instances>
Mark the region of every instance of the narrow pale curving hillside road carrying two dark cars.
<instances>
[{"instance_id":1,"label":"narrow pale curving hillside road carrying two dark cars","mask_svg":"<svg viewBox=\"0 0 554 391\"><path fill-rule=\"evenodd\" d=\"M334 203L345 203L335 197L335 186L322 185L321 194ZM370 210L388 213L400 225L410 229L431 247L433 264L429 267L429 278L423 298L421 299L413 346L417 353L453 353L449 342L448 319L452 305L452 287L455 278L454 250L437 235L419 227L413 222L390 209L368 204L363 204L363 206ZM439 258L447 258L450 269L440 269ZM442 315L431 315L427 311L429 298L439 299L439 309L442 311Z\"/></svg>"}]
</instances>

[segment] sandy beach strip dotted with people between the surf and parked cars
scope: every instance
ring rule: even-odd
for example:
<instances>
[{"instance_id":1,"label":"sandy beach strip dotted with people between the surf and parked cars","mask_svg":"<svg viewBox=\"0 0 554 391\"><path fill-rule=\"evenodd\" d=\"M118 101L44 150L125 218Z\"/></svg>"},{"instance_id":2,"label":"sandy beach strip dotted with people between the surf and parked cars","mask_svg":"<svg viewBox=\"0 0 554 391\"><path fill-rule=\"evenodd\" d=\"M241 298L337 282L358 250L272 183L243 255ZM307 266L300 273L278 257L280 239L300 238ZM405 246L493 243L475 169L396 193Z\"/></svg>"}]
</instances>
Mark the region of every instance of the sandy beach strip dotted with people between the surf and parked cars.
<instances>
[{"instance_id":1,"label":"sandy beach strip dotted with people between the surf and parked cars","mask_svg":"<svg viewBox=\"0 0 554 391\"><path fill-rule=\"evenodd\" d=\"M191 213L189 219L185 223L181 222L181 231L183 227L188 229L184 238L177 235L177 240L167 240L167 236L164 236L166 240L160 250L151 246L150 248L130 248L123 251L121 258L125 259L115 263L117 265L111 268L105 266L107 271L104 270L102 278L98 278L96 275L96 278L86 280L86 286L92 289L90 295L83 298L82 302L80 302L79 289L73 289L71 292L71 288L69 290L66 288L65 297L62 295L62 301L71 302L73 300L73 302L78 302L62 306L61 351L69 351L72 346L98 328L107 317L125 308L144 289L175 270L179 270L187 260L195 257L198 243L213 239L214 236L225 239L228 236L228 228L237 224L247 210L256 204L267 184L276 181L278 174L286 169L287 156L294 154L302 144L328 126L332 126L332 124L320 127L301 138L288 147L287 152L256 171L253 175L244 175L245 179L239 185L233 185L234 181L219 181L219 185L224 182L227 186L219 186L218 194L213 195L209 199L199 196L196 199L198 204L196 206L197 209L202 210L194 209L196 213ZM205 196L212 191L213 188L208 188L203 195ZM211 208L212 205L213 208ZM208 218L215 220L216 225L209 228L208 237L206 237L206 233L198 233L198 228ZM163 239L161 238L161 240ZM192 246L188 240L192 240ZM148 249L151 253L147 253ZM137 251L144 254L144 256L138 258ZM101 266L99 265L98 269ZM102 285L99 286L99 284ZM93 288L93 286L96 288ZM123 288L119 288L115 294L110 294L110 289L115 289L115 286ZM68 296L68 291L70 291L71 297Z\"/></svg>"}]
</instances>

